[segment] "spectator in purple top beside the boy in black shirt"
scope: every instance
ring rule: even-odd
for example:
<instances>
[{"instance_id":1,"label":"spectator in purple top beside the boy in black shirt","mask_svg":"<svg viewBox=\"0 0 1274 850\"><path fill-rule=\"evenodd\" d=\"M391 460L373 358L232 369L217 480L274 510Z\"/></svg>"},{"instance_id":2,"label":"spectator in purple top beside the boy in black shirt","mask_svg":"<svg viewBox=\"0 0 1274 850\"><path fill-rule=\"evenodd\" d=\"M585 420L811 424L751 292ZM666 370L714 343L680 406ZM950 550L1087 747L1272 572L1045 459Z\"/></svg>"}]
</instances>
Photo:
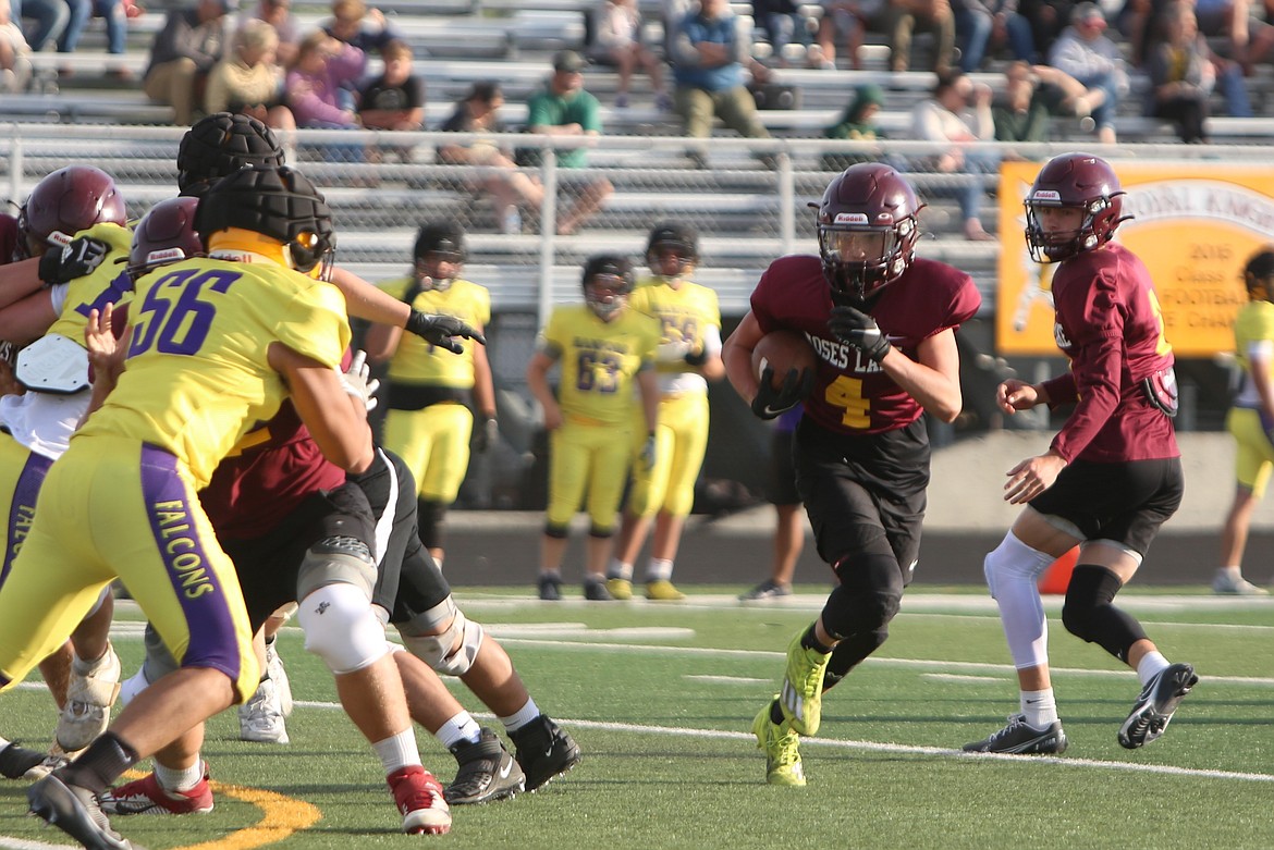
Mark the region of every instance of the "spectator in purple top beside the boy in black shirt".
<instances>
[{"instance_id":1,"label":"spectator in purple top beside the boy in black shirt","mask_svg":"<svg viewBox=\"0 0 1274 850\"><path fill-rule=\"evenodd\" d=\"M297 61L288 71L288 106L298 127L355 130L353 99L344 90L357 83L366 64L363 51L333 38L322 29L301 39Z\"/></svg>"}]
</instances>

